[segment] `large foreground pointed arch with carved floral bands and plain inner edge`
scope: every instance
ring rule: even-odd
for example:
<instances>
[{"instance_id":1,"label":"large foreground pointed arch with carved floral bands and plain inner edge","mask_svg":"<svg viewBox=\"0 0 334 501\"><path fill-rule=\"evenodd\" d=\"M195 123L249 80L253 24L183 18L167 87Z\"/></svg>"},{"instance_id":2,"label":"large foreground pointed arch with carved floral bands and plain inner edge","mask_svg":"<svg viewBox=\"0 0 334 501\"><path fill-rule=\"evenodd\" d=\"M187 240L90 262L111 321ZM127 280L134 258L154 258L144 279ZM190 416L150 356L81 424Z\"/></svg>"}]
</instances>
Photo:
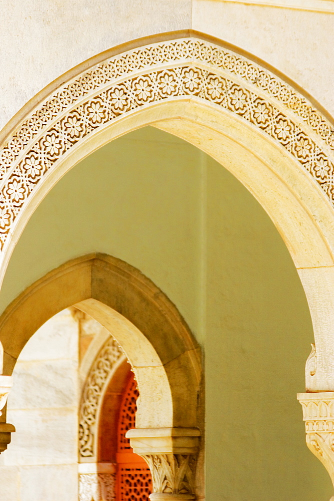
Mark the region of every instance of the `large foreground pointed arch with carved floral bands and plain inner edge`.
<instances>
[{"instance_id":1,"label":"large foreground pointed arch with carved floral bands and plain inner edge","mask_svg":"<svg viewBox=\"0 0 334 501\"><path fill-rule=\"evenodd\" d=\"M3 139L1 277L57 180L102 144L153 124L223 163L268 212L312 315L317 364L306 387L334 389L332 124L265 64L195 32L132 42L87 67L41 92Z\"/></svg>"}]
</instances>

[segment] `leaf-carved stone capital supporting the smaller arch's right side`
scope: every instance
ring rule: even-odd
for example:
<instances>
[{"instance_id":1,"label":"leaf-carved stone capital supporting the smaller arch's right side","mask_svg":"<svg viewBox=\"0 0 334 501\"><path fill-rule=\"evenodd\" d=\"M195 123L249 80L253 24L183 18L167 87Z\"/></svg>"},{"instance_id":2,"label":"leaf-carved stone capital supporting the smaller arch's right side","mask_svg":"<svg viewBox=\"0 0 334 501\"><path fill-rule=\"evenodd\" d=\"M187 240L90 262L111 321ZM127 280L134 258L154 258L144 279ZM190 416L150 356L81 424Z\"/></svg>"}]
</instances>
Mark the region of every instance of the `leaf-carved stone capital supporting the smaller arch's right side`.
<instances>
[{"instance_id":1,"label":"leaf-carved stone capital supporting the smaller arch's right side","mask_svg":"<svg viewBox=\"0 0 334 501\"><path fill-rule=\"evenodd\" d=\"M197 428L136 428L126 433L133 452L144 458L151 471L151 501L195 499L199 435Z\"/></svg>"}]
</instances>

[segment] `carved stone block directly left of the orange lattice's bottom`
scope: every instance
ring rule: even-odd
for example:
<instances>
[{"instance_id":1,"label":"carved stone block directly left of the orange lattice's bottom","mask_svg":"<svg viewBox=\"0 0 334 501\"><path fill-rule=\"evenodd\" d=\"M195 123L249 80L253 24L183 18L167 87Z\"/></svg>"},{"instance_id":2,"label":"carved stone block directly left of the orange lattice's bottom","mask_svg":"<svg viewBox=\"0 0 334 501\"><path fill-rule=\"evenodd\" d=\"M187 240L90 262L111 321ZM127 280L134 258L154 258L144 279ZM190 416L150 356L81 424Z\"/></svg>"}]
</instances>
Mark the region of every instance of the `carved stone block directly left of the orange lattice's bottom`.
<instances>
[{"instance_id":1,"label":"carved stone block directly left of the orange lattice's bottom","mask_svg":"<svg viewBox=\"0 0 334 501\"><path fill-rule=\"evenodd\" d=\"M79 501L114 501L115 473L79 473Z\"/></svg>"}]
</instances>

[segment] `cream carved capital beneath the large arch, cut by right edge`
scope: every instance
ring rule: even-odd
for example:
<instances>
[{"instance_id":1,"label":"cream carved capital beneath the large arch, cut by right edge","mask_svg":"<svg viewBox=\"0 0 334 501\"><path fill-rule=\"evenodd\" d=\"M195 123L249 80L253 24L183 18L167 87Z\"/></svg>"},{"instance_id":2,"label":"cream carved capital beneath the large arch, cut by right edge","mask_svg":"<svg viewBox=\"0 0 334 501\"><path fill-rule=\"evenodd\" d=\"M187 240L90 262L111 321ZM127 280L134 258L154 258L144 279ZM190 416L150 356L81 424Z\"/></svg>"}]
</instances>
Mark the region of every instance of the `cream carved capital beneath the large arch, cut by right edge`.
<instances>
[{"instance_id":1,"label":"cream carved capital beneath the large arch, cut by right edge","mask_svg":"<svg viewBox=\"0 0 334 501\"><path fill-rule=\"evenodd\" d=\"M334 392L298 393L306 444L322 462L334 485Z\"/></svg>"}]
</instances>

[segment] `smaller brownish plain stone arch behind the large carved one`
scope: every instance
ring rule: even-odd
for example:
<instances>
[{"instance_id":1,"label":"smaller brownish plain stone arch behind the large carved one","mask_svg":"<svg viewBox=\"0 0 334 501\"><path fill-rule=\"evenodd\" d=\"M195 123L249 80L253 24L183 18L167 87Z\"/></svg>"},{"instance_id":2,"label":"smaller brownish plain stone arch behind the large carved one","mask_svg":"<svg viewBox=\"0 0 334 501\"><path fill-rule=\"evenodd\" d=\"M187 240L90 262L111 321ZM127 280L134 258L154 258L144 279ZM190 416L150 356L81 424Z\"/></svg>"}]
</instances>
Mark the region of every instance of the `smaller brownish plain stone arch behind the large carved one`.
<instances>
[{"instance_id":1,"label":"smaller brownish plain stone arch behind the large carved one","mask_svg":"<svg viewBox=\"0 0 334 501\"><path fill-rule=\"evenodd\" d=\"M140 391L138 428L196 426L198 344L148 278L103 254L65 263L7 307L0 317L4 373L11 374L21 349L46 320L73 305L112 333L133 367Z\"/></svg>"}]
</instances>

